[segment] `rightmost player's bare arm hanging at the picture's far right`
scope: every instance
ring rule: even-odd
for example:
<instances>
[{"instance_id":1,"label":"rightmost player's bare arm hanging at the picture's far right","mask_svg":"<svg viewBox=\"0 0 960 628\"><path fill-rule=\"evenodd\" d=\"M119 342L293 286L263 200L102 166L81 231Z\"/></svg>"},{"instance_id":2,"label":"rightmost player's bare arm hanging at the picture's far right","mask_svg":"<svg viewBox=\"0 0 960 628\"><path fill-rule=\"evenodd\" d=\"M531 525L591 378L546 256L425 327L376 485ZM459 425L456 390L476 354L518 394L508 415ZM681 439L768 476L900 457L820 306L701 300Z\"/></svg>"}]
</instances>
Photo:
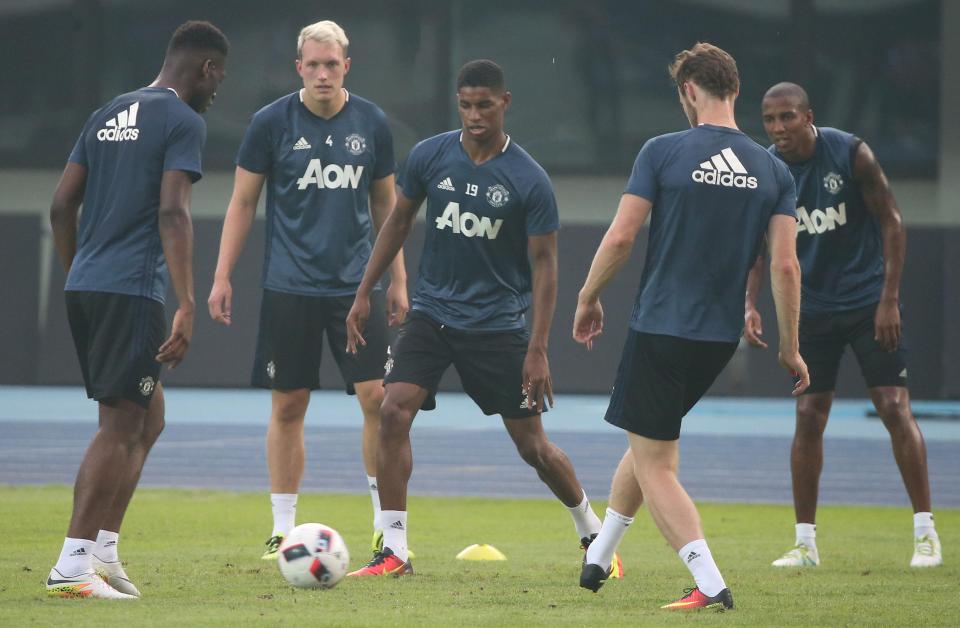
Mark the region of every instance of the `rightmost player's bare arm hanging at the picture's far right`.
<instances>
[{"instance_id":1,"label":"rightmost player's bare arm hanging at the picture's far right","mask_svg":"<svg viewBox=\"0 0 960 628\"><path fill-rule=\"evenodd\" d=\"M900 277L907 255L907 231L890 182L866 142L857 147L853 175L867 209L877 217L883 237L883 292L874 317L876 340L887 351L900 344Z\"/></svg>"}]
</instances>

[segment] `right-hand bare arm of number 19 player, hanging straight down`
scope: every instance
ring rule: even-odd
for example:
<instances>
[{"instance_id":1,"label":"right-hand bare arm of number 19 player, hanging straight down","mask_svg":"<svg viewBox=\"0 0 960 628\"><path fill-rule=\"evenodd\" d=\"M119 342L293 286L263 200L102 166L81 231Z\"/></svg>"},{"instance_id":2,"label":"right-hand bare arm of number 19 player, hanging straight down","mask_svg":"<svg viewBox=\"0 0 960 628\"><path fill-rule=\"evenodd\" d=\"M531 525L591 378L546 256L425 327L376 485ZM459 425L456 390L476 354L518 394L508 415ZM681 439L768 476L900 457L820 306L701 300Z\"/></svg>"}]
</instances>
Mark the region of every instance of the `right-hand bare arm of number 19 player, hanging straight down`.
<instances>
[{"instance_id":1,"label":"right-hand bare arm of number 19 player, hanging straight down","mask_svg":"<svg viewBox=\"0 0 960 628\"><path fill-rule=\"evenodd\" d=\"M544 397L553 407L547 342L557 306L557 232L530 236L527 247L533 270L533 324L523 361L523 386L529 407L542 410Z\"/></svg>"}]
</instances>

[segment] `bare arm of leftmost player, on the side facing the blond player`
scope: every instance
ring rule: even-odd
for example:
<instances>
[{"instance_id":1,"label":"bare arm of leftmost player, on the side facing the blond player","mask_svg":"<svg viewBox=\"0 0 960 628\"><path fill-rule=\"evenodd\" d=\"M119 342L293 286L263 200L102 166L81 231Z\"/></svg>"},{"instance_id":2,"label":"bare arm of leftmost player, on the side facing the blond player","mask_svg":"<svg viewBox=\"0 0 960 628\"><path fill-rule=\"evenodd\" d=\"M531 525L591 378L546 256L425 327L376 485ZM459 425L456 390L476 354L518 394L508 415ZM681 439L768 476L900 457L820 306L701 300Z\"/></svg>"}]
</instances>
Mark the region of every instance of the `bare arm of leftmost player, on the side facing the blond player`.
<instances>
[{"instance_id":1,"label":"bare arm of leftmost player, on the side facing the blond player","mask_svg":"<svg viewBox=\"0 0 960 628\"><path fill-rule=\"evenodd\" d=\"M187 355L193 337L193 221L190 193L193 182L182 170L168 170L160 181L159 230L170 283L177 295L170 337L160 345L157 361L176 368Z\"/></svg>"}]
</instances>

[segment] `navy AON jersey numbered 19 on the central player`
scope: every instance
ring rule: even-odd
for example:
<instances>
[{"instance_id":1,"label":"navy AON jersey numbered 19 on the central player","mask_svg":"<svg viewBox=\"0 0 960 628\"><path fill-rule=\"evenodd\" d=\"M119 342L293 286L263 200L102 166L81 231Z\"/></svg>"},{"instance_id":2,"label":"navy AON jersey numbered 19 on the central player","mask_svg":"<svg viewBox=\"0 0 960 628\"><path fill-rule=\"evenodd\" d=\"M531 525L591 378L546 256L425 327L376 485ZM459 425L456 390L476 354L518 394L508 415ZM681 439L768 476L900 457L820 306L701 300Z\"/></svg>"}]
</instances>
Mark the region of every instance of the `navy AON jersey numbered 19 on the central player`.
<instances>
[{"instance_id":1,"label":"navy AON jersey numbered 19 on the central player","mask_svg":"<svg viewBox=\"0 0 960 628\"><path fill-rule=\"evenodd\" d=\"M527 236L560 228L553 187L509 137L479 166L460 139L450 131L420 142L400 176L407 198L427 199L411 307L455 329L522 329L531 296Z\"/></svg>"}]
</instances>

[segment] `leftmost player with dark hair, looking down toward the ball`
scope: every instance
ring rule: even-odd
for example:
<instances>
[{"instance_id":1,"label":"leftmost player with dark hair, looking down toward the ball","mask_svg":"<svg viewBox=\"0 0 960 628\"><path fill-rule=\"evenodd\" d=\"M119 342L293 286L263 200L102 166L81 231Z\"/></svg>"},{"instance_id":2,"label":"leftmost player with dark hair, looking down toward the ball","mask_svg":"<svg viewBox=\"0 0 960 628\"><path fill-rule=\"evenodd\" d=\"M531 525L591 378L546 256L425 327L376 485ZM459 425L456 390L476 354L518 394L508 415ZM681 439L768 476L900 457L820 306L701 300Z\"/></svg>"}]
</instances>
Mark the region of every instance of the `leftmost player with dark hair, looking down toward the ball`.
<instances>
[{"instance_id":1,"label":"leftmost player with dark hair, looking down toward the ball","mask_svg":"<svg viewBox=\"0 0 960 628\"><path fill-rule=\"evenodd\" d=\"M176 367L193 334L190 191L206 139L199 114L226 76L228 48L209 22L177 28L157 79L87 120L53 195L67 317L87 396L100 412L47 579L54 596L140 596L117 555L120 525L163 430L161 364ZM178 308L164 340L168 283Z\"/></svg>"}]
</instances>

